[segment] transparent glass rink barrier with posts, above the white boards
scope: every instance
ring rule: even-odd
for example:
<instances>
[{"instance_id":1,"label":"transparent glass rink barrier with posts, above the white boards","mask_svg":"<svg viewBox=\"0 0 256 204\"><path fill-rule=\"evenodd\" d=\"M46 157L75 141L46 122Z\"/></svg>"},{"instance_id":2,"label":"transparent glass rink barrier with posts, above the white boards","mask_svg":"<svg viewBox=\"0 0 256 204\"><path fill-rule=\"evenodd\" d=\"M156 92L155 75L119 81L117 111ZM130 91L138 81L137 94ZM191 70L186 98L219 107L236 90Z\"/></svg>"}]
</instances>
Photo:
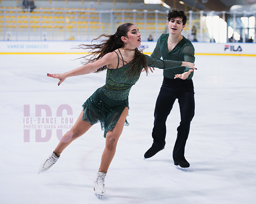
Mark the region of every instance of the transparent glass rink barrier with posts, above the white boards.
<instances>
[{"instance_id":1,"label":"transparent glass rink barrier with posts, above the white boards","mask_svg":"<svg viewBox=\"0 0 256 204\"><path fill-rule=\"evenodd\" d=\"M92 40L100 34L113 34L122 23L136 24L147 40L167 33L168 11L90 9L0 8L0 40ZM187 12L182 34L198 42L254 42L255 12Z\"/></svg>"}]
</instances>

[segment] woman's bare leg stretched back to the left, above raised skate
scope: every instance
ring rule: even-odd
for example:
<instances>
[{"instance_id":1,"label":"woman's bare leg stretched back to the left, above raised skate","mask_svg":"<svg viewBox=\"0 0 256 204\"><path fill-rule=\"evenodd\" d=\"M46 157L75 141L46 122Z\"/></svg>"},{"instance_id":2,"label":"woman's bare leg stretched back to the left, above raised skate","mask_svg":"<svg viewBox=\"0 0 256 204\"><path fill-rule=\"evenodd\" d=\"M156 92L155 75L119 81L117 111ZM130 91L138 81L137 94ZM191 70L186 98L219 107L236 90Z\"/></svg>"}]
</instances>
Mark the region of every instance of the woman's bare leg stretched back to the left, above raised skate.
<instances>
[{"instance_id":1,"label":"woman's bare leg stretched back to the left, above raised skate","mask_svg":"<svg viewBox=\"0 0 256 204\"><path fill-rule=\"evenodd\" d=\"M75 125L66 133L64 136L61 138L61 141L57 145L57 147L54 150L54 153L56 156L60 156L61 152L75 139L79 138L82 136L84 133L87 132L87 130L92 127L90 125L90 122L85 122L82 120L83 118L83 111L79 115Z\"/></svg>"}]
</instances>

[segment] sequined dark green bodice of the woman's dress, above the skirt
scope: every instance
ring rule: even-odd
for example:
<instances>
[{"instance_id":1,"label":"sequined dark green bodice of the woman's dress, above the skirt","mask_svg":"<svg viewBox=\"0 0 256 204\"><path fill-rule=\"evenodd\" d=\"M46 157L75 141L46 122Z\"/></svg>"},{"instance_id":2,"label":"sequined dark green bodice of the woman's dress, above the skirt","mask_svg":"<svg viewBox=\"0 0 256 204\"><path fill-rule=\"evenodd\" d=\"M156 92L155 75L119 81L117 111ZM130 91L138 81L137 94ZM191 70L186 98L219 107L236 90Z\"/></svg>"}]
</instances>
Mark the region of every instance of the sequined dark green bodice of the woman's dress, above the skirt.
<instances>
[{"instance_id":1,"label":"sequined dark green bodice of the woman's dress, above the skirt","mask_svg":"<svg viewBox=\"0 0 256 204\"><path fill-rule=\"evenodd\" d=\"M131 87L138 81L138 74L128 77L127 69L129 65L124 65L116 69L107 69L106 84L102 87L103 93L114 100L125 100L129 96Z\"/></svg>"}]
</instances>

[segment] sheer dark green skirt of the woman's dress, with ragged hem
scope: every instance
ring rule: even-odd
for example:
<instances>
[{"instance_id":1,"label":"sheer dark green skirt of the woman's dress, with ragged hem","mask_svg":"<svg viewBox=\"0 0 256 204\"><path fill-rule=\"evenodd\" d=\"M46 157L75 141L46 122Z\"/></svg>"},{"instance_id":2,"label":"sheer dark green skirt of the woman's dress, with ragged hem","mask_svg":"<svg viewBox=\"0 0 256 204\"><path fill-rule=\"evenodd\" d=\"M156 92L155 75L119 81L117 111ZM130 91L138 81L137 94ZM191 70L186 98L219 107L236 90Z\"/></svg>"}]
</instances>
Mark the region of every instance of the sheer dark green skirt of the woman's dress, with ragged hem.
<instances>
[{"instance_id":1,"label":"sheer dark green skirt of the woman's dress, with ragged hem","mask_svg":"<svg viewBox=\"0 0 256 204\"><path fill-rule=\"evenodd\" d=\"M82 105L83 120L91 125L100 122L104 137L108 130L113 130L125 107L129 107L128 99L113 100L103 94L102 87L97 89ZM125 126L129 123L125 119Z\"/></svg>"}]
</instances>

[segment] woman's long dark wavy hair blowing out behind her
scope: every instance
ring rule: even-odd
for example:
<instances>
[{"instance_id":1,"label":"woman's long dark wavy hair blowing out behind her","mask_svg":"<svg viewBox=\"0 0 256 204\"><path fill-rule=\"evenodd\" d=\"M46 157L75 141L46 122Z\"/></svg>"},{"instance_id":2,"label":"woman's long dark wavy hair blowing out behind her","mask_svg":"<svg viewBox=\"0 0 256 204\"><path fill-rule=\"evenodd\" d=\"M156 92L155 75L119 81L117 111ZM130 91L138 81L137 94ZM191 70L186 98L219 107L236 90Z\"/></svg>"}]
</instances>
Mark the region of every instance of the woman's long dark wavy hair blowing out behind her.
<instances>
[{"instance_id":1,"label":"woman's long dark wavy hair blowing out behind her","mask_svg":"<svg viewBox=\"0 0 256 204\"><path fill-rule=\"evenodd\" d=\"M128 31L130 26L133 26L134 24L132 23L124 23L120 25L116 33L113 35L108 35L108 34L102 34L96 39L93 40L99 40L102 37L106 37L106 40L102 40L100 44L92 44L92 45L79 45L79 48L82 49L91 49L89 54L85 57L81 57L85 59L84 64L88 64L91 62L95 62L96 60L100 59L103 57L105 54L109 52L113 52L116 49L124 47L124 42L121 40L121 37L127 37ZM92 42L93 42L92 40ZM81 59L79 58L79 59ZM134 54L134 59L130 63L131 69L128 71L128 76L134 76L135 74L141 73L142 68L145 68L146 74L148 74L148 65L147 65L147 60L142 53L142 51L139 51L138 48L135 48L135 54ZM107 65L97 69L95 72L98 73L100 71L103 71L107 69Z\"/></svg>"}]
</instances>

